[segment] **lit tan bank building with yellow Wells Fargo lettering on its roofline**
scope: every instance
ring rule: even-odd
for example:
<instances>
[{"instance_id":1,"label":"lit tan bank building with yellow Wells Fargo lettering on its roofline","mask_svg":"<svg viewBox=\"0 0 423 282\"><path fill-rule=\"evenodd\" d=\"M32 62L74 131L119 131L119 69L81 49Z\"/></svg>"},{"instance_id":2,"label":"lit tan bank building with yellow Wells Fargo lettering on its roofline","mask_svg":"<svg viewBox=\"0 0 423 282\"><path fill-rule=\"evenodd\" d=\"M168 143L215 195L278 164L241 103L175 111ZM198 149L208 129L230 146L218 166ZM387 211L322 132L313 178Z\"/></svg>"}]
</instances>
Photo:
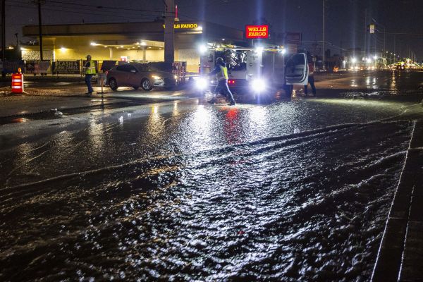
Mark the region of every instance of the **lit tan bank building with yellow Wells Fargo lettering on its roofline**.
<instances>
[{"instance_id":1,"label":"lit tan bank building with yellow Wells Fargo lettering on its roofline","mask_svg":"<svg viewBox=\"0 0 423 282\"><path fill-rule=\"evenodd\" d=\"M207 22L175 22L175 61L187 62L188 72L197 72L201 44L245 45L242 30ZM164 23L85 23L44 25L43 59L164 61ZM23 27L23 36L39 40L38 25ZM24 45L22 59L39 60L38 45Z\"/></svg>"}]
</instances>

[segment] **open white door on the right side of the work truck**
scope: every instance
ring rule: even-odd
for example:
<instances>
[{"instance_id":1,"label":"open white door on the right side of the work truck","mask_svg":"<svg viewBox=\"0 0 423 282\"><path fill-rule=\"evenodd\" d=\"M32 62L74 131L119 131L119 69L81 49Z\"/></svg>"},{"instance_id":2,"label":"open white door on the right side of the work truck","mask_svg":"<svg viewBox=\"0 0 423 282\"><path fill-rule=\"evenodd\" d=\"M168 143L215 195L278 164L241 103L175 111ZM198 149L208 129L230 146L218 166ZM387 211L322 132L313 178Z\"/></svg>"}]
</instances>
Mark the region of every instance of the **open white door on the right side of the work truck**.
<instances>
[{"instance_id":1,"label":"open white door on the right side of the work truck","mask_svg":"<svg viewBox=\"0 0 423 282\"><path fill-rule=\"evenodd\" d=\"M306 54L295 54L286 62L285 81L287 85L307 85L308 73Z\"/></svg>"}]
</instances>

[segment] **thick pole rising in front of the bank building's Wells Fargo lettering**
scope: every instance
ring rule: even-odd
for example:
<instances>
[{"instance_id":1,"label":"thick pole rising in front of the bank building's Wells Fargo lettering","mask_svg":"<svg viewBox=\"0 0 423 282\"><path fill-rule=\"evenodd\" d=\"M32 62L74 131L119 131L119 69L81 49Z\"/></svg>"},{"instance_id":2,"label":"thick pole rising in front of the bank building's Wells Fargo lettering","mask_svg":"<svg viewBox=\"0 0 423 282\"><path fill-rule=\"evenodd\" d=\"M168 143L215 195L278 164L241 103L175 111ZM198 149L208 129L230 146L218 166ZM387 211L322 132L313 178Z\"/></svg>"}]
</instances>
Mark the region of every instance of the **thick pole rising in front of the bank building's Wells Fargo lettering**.
<instances>
[{"instance_id":1,"label":"thick pole rising in front of the bank building's Wells Fargo lettering","mask_svg":"<svg viewBox=\"0 0 423 282\"><path fill-rule=\"evenodd\" d=\"M175 61L175 0L165 0L164 19L164 61L173 63Z\"/></svg>"}]
</instances>

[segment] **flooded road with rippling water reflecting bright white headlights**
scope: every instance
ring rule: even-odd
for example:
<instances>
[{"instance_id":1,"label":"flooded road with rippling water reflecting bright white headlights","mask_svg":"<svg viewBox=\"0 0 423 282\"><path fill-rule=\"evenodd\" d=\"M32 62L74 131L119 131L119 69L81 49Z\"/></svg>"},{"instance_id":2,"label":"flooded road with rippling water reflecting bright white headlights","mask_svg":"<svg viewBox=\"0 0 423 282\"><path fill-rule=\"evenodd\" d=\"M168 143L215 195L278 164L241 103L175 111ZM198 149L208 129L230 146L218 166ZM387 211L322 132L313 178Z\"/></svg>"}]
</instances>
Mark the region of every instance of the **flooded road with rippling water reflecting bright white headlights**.
<instances>
[{"instance_id":1,"label":"flooded road with rippling water reflecting bright white headlights","mask_svg":"<svg viewBox=\"0 0 423 282\"><path fill-rule=\"evenodd\" d=\"M367 281L407 106L187 100L4 125L0 280Z\"/></svg>"}]
</instances>

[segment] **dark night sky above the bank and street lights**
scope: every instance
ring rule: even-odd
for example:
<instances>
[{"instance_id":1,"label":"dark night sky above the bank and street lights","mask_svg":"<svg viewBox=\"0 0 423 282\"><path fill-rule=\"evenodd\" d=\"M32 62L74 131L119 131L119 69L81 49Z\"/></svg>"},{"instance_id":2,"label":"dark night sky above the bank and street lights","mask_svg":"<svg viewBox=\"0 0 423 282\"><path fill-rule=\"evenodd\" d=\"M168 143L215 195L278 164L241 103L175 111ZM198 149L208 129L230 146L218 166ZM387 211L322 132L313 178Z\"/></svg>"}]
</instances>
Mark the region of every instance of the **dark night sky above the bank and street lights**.
<instances>
[{"instance_id":1,"label":"dark night sky above the bank and street lights","mask_svg":"<svg viewBox=\"0 0 423 282\"><path fill-rule=\"evenodd\" d=\"M181 20L194 18L243 29L244 25L264 17L276 32L302 32L309 48L322 37L323 0L176 0ZM102 6L102 8L99 8ZM379 34L367 43L367 49L384 47L407 56L415 51L423 59L423 0L325 0L326 42L332 54L339 48L364 47L364 18L377 20ZM46 0L43 23L104 23L153 20L164 10L163 0ZM23 25L37 24L33 0L6 0L7 44L16 42ZM405 33L396 35L393 33ZM394 39L396 44L394 46ZM376 42L376 43L375 43ZM394 50L395 48L395 50Z\"/></svg>"}]
</instances>

